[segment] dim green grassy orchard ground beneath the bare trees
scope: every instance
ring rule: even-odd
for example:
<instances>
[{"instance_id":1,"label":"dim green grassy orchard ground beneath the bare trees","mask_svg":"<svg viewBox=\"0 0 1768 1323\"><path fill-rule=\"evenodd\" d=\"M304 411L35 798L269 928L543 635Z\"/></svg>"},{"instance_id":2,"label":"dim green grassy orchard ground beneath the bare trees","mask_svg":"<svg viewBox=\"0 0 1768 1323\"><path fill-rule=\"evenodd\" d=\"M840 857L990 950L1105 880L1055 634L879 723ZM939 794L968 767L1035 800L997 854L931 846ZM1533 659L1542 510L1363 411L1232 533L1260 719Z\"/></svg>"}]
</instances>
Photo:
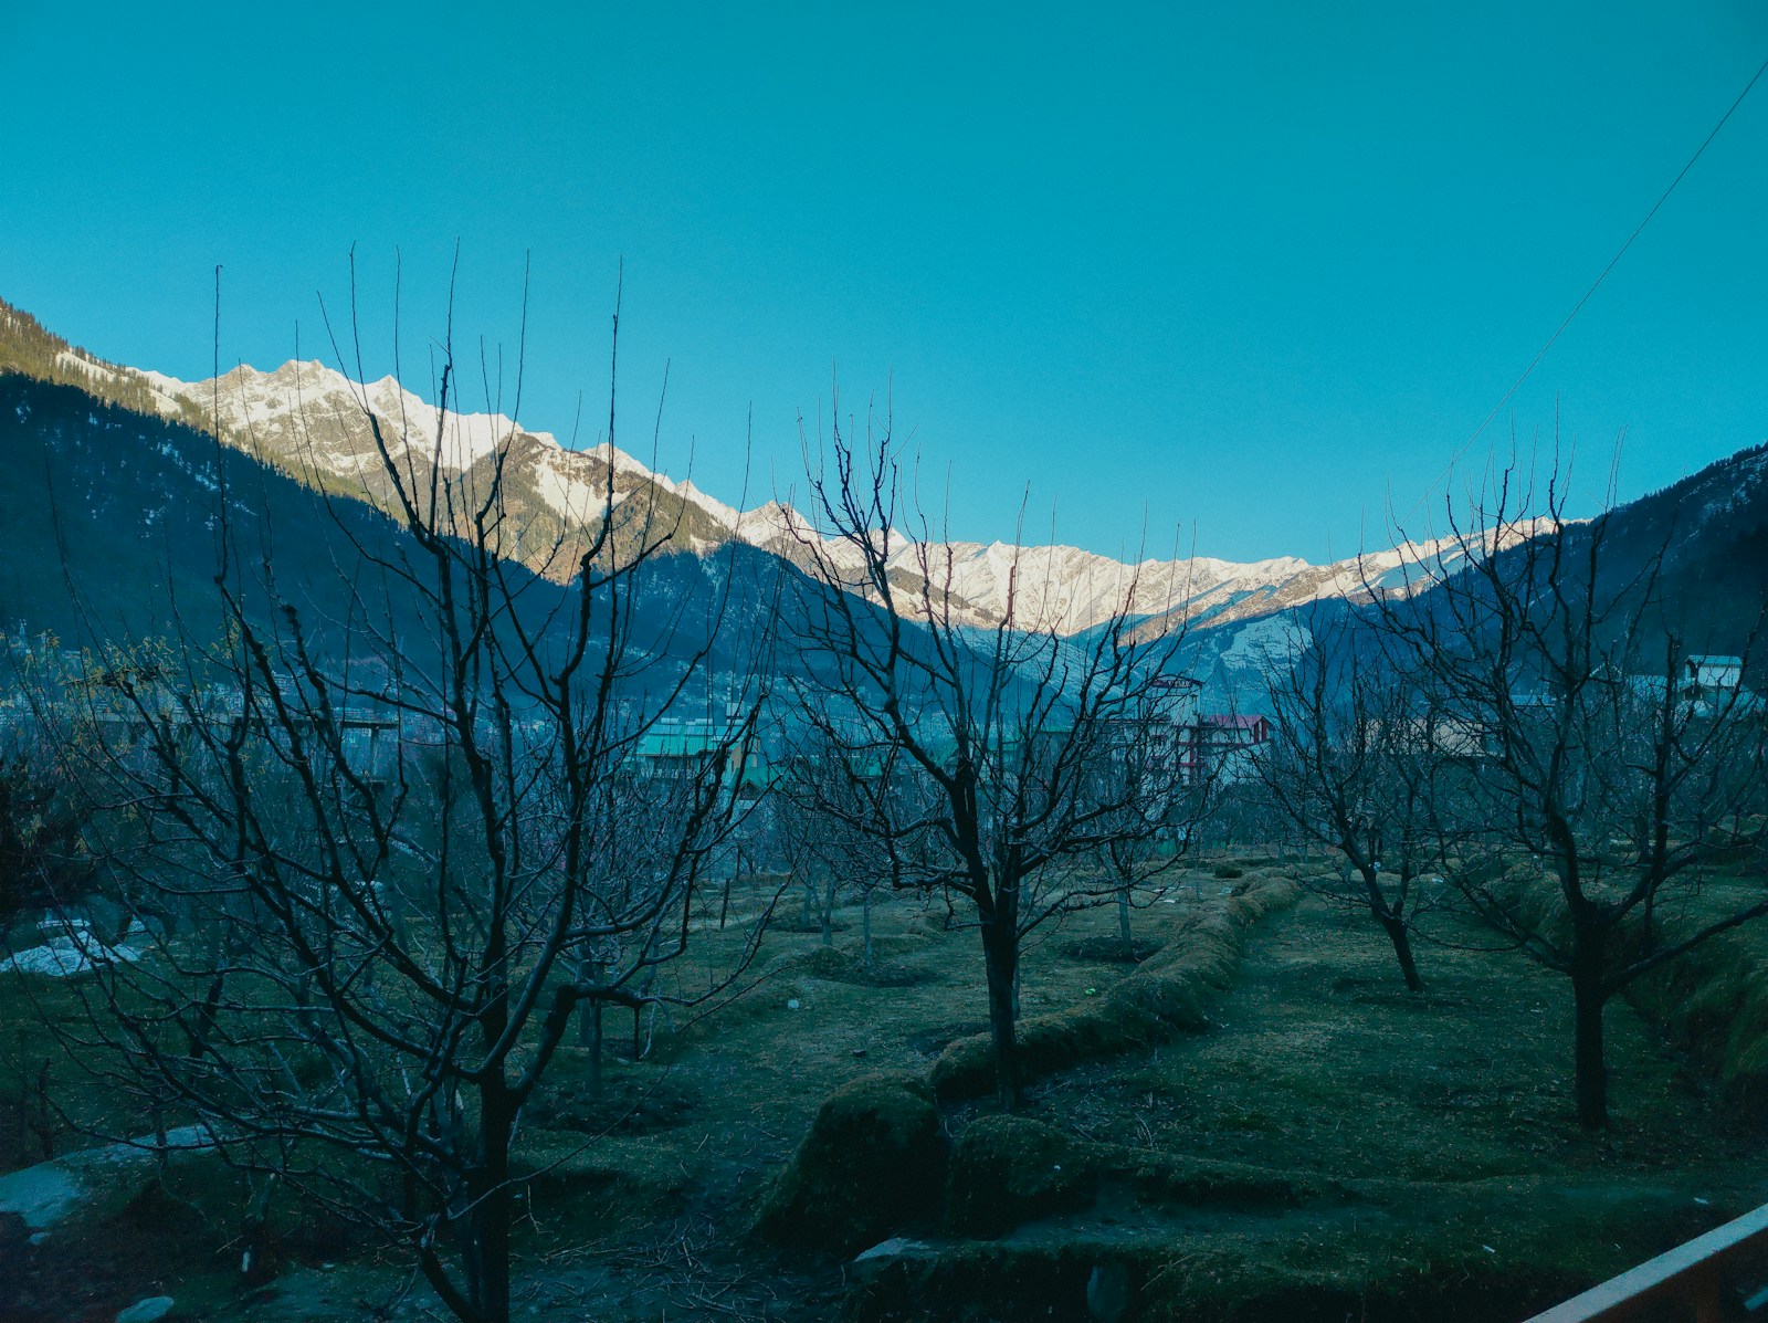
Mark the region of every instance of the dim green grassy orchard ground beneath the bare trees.
<instances>
[{"instance_id":1,"label":"dim green grassy orchard ground beneath the bare trees","mask_svg":"<svg viewBox=\"0 0 1768 1323\"><path fill-rule=\"evenodd\" d=\"M833 950L776 929L753 987L659 1022L644 1061L626 1059L629 1017L610 1015L605 1097L569 1049L525 1121L520 1309L1086 1318L1100 1270L1126 1318L1513 1319L1768 1199L1759 1132L1722 1102L1724 1052L1669 1036L1701 1031L1710 1047L1711 1022L1741 1013L1731 1003L1667 1033L1616 1001L1614 1127L1589 1137L1572 1114L1559 976L1517 953L1425 946L1427 990L1409 996L1367 918L1287 904L1280 870L1243 867L1200 870L1137 913L1139 966L1110 959L1112 911L1036 941L1022 1015L1052 1068L1017 1120L965 1097L953 1065L985 1001L978 937L946 932L942 906L880 907L872 967L856 913ZM1759 953L1743 937L1724 948L1724 998L1756 1006ZM18 990L0 996L7 1024L27 1024ZM902 1227L930 1249L859 1281L817 1236L750 1227L824 1100L877 1072L941 1084L951 1160ZM88 1090L80 1105L103 1120L106 1098ZM32 1153L11 1086L5 1107L0 1159L19 1166ZM108 1319L157 1289L191 1318L440 1314L421 1286L389 1305L385 1265L288 1210L286 1270L244 1288L228 1250L239 1197L216 1173L173 1173L120 1220L51 1240L32 1272L67 1307L37 1316Z\"/></svg>"}]
</instances>

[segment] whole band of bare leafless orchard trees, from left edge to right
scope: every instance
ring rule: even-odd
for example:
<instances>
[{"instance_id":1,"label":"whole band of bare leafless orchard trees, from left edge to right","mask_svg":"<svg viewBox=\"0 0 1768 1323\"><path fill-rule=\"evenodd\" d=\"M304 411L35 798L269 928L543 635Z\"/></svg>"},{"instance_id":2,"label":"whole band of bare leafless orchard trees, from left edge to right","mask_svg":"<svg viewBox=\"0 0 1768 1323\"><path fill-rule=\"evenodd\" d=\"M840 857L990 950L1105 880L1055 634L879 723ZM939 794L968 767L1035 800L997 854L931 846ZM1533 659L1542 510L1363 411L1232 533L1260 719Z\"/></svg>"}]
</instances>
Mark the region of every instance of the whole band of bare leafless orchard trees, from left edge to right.
<instances>
[{"instance_id":1,"label":"whole band of bare leafless orchard trees, from left edge to right","mask_svg":"<svg viewBox=\"0 0 1768 1323\"><path fill-rule=\"evenodd\" d=\"M391 522L315 497L325 593L223 481L212 603L147 644L92 621L81 665L16 677L9 738L35 738L0 750L0 860L120 916L67 1044L95 1082L265 1203L366 1226L463 1323L511 1316L513 1153L560 1052L599 1097L608 1015L642 1059L670 1008L773 973L781 906L824 944L857 906L866 966L896 899L974 934L1011 1113L1027 943L1116 909L1133 966L1135 911L1232 812L1324 851L1301 884L1413 994L1434 943L1563 975L1588 1128L1609 1003L1768 914L1701 891L1763 842L1756 621L1692 637L1665 548L1568 520L1558 474L1506 476L1402 582L1305 616L1268 658L1271 739L1206 757L1192 637L1149 628L1133 577L1078 633L1022 561L1006 610L969 614L888 417L806 440L783 557L693 547L612 462L536 548L514 437L442 463L456 391L444 343L428 460L357 400Z\"/></svg>"}]
</instances>

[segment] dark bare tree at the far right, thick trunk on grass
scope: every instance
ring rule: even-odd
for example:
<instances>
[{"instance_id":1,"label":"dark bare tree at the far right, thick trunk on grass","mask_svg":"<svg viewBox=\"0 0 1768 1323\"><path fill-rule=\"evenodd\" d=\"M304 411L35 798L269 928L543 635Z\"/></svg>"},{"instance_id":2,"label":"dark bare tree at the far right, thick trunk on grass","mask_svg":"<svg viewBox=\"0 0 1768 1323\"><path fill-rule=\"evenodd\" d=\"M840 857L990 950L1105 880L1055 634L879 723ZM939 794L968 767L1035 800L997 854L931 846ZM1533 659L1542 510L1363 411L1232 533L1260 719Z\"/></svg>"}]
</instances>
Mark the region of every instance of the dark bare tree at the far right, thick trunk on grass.
<instances>
[{"instance_id":1,"label":"dark bare tree at the far right, thick trunk on grass","mask_svg":"<svg viewBox=\"0 0 1768 1323\"><path fill-rule=\"evenodd\" d=\"M1542 497L1506 472L1453 529L1464 562L1414 564L1443 582L1377 598L1430 709L1478 750L1437 808L1459 821L1455 881L1570 980L1586 1128L1609 1120L1609 999L1768 914L1768 899L1694 907L1701 865L1763 831L1763 706L1741 683L1759 610L1729 683L1690 688L1665 543L1637 545L1619 518L1568 522L1559 472Z\"/></svg>"}]
</instances>

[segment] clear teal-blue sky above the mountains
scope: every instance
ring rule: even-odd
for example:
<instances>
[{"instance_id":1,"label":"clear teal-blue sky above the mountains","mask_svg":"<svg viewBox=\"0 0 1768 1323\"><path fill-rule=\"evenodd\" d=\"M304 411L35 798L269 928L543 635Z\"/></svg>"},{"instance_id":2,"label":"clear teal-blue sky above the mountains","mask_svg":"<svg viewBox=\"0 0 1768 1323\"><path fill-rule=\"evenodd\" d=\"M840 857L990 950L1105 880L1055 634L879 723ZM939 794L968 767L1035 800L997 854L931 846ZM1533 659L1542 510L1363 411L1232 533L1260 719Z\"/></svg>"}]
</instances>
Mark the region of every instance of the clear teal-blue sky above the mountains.
<instances>
[{"instance_id":1,"label":"clear teal-blue sky above the mountains","mask_svg":"<svg viewBox=\"0 0 1768 1323\"><path fill-rule=\"evenodd\" d=\"M150 12L150 11L159 11ZM529 426L728 501L895 393L953 536L1322 559L1421 497L1768 57L1763 0L0 5L0 295L209 375L407 379L456 325ZM1768 437L1768 78L1494 423L1623 495ZM594 440L594 423L585 424ZM1483 455L1485 442L1475 447ZM937 501L935 501L937 504ZM1367 532L1365 532L1367 529Z\"/></svg>"}]
</instances>

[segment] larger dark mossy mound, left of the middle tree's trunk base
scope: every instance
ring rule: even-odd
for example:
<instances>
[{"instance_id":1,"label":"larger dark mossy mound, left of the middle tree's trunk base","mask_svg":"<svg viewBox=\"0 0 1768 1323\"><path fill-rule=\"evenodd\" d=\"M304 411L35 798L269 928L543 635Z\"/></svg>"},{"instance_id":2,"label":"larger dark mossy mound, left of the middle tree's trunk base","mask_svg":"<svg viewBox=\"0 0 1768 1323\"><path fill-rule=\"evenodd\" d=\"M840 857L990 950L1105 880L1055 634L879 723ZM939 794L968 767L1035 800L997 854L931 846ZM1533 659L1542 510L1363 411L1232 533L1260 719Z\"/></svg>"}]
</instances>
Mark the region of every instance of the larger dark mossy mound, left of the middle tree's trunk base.
<instances>
[{"instance_id":1,"label":"larger dark mossy mound, left of the middle tree's trunk base","mask_svg":"<svg viewBox=\"0 0 1768 1323\"><path fill-rule=\"evenodd\" d=\"M755 1235L854 1254L935 1220L944 1185L946 1139L926 1082L895 1070L861 1075L822 1104Z\"/></svg>"}]
</instances>

